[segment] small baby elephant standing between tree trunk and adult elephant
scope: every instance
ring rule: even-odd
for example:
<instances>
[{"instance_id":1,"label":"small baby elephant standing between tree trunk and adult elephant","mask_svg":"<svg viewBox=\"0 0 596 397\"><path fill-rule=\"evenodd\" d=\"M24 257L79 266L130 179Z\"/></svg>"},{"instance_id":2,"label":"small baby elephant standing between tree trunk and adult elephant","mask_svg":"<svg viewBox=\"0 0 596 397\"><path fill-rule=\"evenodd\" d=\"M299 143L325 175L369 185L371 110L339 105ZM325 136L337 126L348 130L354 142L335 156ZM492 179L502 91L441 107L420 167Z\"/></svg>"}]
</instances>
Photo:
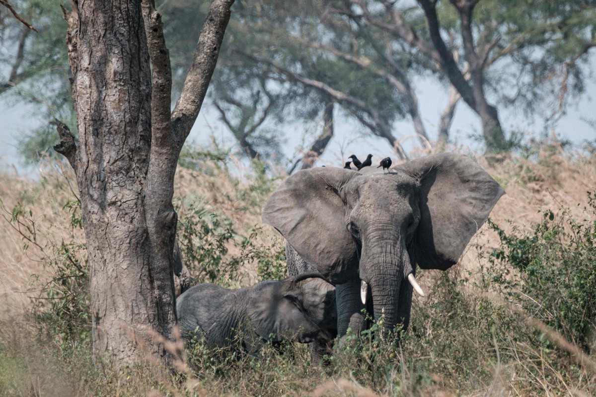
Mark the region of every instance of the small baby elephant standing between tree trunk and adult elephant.
<instances>
[{"instance_id":1,"label":"small baby elephant standing between tree trunk and adult elephant","mask_svg":"<svg viewBox=\"0 0 596 397\"><path fill-rule=\"evenodd\" d=\"M195 285L179 296L176 311L187 339L204 337L218 348L240 343L248 352L265 340L324 345L337 323L335 287L315 273L237 290Z\"/></svg>"}]
</instances>

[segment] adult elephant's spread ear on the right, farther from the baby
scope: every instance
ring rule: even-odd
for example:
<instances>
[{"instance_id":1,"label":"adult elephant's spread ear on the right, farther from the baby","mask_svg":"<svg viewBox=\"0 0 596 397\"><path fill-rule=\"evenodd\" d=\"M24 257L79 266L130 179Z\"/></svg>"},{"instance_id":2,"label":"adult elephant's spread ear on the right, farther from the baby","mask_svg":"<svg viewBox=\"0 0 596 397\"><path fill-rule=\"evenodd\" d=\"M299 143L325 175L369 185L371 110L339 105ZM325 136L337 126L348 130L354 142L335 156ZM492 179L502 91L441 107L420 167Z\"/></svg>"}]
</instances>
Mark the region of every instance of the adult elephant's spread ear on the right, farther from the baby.
<instances>
[{"instance_id":1,"label":"adult elephant's spread ear on the right, farther from the baby","mask_svg":"<svg viewBox=\"0 0 596 397\"><path fill-rule=\"evenodd\" d=\"M412 240L412 260L421 268L448 269L505 190L461 154L432 155L395 169L420 182L420 223Z\"/></svg>"}]
</instances>

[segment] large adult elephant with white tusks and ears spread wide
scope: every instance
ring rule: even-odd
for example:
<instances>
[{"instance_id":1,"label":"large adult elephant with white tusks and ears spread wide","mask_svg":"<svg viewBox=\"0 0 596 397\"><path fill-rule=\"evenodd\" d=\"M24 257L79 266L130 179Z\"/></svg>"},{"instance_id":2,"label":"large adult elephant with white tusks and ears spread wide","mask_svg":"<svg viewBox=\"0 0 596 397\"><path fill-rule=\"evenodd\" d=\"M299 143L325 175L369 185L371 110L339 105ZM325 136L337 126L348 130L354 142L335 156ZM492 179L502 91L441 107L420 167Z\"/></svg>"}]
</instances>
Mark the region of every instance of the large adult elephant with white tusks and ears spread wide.
<instances>
[{"instance_id":1,"label":"large adult elephant with white tusks and ears spread wide","mask_svg":"<svg viewBox=\"0 0 596 397\"><path fill-rule=\"evenodd\" d=\"M471 158L437 154L390 173L298 171L271 195L263 222L287 240L290 272L316 270L336 285L337 329L358 332L369 301L387 330L409 324L416 264L446 270L504 190Z\"/></svg>"}]
</instances>

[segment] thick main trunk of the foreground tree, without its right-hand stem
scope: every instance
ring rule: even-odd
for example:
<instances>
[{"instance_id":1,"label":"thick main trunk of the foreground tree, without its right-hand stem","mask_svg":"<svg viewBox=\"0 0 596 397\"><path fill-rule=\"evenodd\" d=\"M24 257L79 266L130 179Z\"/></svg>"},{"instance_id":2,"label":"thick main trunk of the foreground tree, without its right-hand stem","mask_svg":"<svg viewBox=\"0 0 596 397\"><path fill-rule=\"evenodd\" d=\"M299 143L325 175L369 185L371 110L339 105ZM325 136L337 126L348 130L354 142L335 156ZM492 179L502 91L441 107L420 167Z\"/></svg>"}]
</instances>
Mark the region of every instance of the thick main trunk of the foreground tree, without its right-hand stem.
<instances>
[{"instance_id":1,"label":"thick main trunk of the foreground tree, without its right-hand stem","mask_svg":"<svg viewBox=\"0 0 596 397\"><path fill-rule=\"evenodd\" d=\"M173 283L159 291L159 307L150 271L143 195L151 148L147 40L140 3L120 7L87 1L78 16L73 101L93 349L95 357L128 364L136 358L138 342L156 353L151 330L169 335L175 321ZM167 262L160 270L170 273ZM159 318L158 311L165 317Z\"/></svg>"}]
</instances>

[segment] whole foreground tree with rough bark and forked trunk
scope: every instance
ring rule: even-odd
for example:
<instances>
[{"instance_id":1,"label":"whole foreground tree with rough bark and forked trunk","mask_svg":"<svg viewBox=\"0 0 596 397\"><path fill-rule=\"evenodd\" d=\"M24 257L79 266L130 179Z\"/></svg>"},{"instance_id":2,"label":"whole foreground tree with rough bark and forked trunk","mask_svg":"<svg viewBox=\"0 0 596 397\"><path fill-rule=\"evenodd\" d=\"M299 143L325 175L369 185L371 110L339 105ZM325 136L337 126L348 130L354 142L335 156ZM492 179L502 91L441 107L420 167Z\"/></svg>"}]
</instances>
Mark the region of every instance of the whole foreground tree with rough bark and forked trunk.
<instances>
[{"instance_id":1,"label":"whole foreground tree with rough bark and forked trunk","mask_svg":"<svg viewBox=\"0 0 596 397\"><path fill-rule=\"evenodd\" d=\"M173 178L201 108L234 0L215 0L180 98L153 1L72 2L64 10L78 142L56 121L75 170L91 274L95 357L121 366L175 324ZM151 67L150 67L151 66ZM153 71L153 73L151 73Z\"/></svg>"}]
</instances>

